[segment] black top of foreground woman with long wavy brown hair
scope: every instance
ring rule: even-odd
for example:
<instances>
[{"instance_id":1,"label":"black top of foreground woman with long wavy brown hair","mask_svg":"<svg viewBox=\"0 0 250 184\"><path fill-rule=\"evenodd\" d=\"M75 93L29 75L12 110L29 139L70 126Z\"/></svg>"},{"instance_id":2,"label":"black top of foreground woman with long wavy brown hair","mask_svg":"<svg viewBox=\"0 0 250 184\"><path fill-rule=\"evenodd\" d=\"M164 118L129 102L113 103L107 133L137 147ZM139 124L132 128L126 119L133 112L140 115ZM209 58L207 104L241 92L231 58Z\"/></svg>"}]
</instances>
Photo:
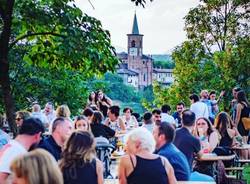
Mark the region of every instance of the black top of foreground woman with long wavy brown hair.
<instances>
[{"instance_id":1,"label":"black top of foreground woman with long wavy brown hair","mask_svg":"<svg viewBox=\"0 0 250 184\"><path fill-rule=\"evenodd\" d=\"M97 184L96 160L63 169L64 184Z\"/></svg>"}]
</instances>

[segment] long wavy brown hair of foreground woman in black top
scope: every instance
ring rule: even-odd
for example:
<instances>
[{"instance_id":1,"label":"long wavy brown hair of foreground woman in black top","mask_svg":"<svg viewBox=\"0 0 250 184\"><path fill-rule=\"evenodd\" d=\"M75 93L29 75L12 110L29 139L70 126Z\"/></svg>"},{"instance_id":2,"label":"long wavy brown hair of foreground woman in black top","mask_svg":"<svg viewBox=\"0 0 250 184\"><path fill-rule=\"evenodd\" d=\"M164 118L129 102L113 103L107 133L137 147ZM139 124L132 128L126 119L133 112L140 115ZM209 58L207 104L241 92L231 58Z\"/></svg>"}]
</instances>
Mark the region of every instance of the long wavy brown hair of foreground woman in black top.
<instances>
[{"instance_id":1,"label":"long wavy brown hair of foreground woman in black top","mask_svg":"<svg viewBox=\"0 0 250 184\"><path fill-rule=\"evenodd\" d=\"M62 152L61 170L76 164L90 163L96 158L94 137L90 132L77 130L71 134Z\"/></svg>"}]
</instances>

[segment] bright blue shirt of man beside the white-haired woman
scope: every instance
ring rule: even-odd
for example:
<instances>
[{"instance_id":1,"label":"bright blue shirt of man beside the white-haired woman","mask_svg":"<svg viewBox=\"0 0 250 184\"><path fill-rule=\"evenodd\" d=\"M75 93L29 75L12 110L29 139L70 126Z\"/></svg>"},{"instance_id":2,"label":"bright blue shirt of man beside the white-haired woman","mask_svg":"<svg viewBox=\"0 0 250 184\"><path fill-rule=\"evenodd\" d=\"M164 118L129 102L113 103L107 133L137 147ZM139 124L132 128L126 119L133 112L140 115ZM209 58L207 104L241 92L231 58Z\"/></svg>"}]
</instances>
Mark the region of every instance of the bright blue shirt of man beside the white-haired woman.
<instances>
[{"instance_id":1,"label":"bright blue shirt of man beside the white-haired woman","mask_svg":"<svg viewBox=\"0 0 250 184\"><path fill-rule=\"evenodd\" d=\"M156 154L162 155L168 159L174 169L175 177L178 181L188 181L190 176L190 167L185 155L172 143L163 145Z\"/></svg>"}]
</instances>

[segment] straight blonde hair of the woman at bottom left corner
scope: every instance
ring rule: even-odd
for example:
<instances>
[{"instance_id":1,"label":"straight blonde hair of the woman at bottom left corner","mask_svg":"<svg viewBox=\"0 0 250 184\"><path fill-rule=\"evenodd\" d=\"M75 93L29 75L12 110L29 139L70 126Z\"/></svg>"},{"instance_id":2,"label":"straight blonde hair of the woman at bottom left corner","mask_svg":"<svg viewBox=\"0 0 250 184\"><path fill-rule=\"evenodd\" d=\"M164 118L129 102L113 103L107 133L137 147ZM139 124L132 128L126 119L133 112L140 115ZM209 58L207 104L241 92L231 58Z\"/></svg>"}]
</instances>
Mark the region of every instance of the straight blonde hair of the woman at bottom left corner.
<instances>
[{"instance_id":1,"label":"straight blonde hair of the woman at bottom left corner","mask_svg":"<svg viewBox=\"0 0 250 184\"><path fill-rule=\"evenodd\" d=\"M45 150L36 149L11 164L13 184L63 184L56 160Z\"/></svg>"}]
</instances>

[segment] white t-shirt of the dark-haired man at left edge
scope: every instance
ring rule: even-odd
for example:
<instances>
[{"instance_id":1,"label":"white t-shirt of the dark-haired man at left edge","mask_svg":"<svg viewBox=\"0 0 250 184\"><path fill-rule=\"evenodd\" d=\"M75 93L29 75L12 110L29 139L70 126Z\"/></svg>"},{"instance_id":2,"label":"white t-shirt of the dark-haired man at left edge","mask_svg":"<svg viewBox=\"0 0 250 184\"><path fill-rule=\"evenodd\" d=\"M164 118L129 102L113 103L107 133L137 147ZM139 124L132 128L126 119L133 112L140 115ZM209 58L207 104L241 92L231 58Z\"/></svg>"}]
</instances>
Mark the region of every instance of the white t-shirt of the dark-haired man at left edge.
<instances>
[{"instance_id":1,"label":"white t-shirt of the dark-haired man at left edge","mask_svg":"<svg viewBox=\"0 0 250 184\"><path fill-rule=\"evenodd\" d=\"M11 173L10 164L18 156L25 154L27 150L17 141L11 140L0 150L0 172Z\"/></svg>"}]
</instances>

